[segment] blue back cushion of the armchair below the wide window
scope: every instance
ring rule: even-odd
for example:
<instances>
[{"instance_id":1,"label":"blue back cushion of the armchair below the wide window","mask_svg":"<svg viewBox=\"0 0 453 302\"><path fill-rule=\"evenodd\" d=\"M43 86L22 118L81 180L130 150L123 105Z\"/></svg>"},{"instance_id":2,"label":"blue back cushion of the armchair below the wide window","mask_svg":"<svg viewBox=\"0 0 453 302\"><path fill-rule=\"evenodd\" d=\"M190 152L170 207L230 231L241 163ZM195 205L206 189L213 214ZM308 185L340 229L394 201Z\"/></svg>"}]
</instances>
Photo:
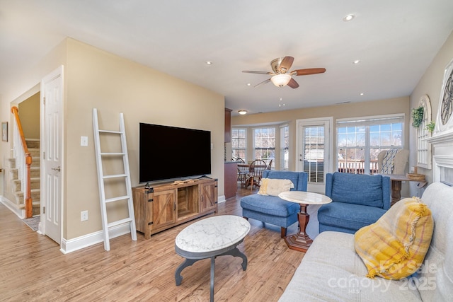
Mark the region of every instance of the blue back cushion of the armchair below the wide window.
<instances>
[{"instance_id":1,"label":"blue back cushion of the armchair below the wide window","mask_svg":"<svg viewBox=\"0 0 453 302\"><path fill-rule=\"evenodd\" d=\"M350 173L333 173L331 194L328 194L333 202L362 204L381 209L384 207L383 195L382 175Z\"/></svg>"}]
</instances>

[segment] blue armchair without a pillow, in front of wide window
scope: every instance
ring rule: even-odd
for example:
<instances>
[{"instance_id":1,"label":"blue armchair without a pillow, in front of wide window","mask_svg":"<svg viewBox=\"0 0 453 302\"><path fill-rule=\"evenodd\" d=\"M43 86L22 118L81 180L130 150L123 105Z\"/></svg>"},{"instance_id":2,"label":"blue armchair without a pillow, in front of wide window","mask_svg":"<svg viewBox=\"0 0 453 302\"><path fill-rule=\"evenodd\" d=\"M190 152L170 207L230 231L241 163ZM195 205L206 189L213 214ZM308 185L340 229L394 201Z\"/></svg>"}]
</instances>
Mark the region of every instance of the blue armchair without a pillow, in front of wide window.
<instances>
[{"instance_id":1,"label":"blue armchair without a pillow, in front of wide window","mask_svg":"<svg viewBox=\"0 0 453 302\"><path fill-rule=\"evenodd\" d=\"M390 209L390 178L382 175L328 173L326 195L330 204L319 208L319 233L355 233L374 223Z\"/></svg>"}]
</instances>

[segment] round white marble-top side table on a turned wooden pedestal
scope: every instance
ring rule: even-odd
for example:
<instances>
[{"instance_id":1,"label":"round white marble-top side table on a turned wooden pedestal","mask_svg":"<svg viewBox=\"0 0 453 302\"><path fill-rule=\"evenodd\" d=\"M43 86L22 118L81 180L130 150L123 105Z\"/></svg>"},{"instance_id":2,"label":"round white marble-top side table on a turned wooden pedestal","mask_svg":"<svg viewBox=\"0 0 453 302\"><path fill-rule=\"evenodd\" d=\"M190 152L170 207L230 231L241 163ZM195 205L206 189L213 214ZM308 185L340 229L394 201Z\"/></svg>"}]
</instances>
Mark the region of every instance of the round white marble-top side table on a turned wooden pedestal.
<instances>
[{"instance_id":1,"label":"round white marble-top side table on a turned wooden pedestal","mask_svg":"<svg viewBox=\"0 0 453 302\"><path fill-rule=\"evenodd\" d=\"M306 225L309 224L310 215L306 212L309 204L328 204L332 199L323 194L304 191L287 191L278 194L278 197L288 202L297 202L300 204L300 212L297 214L299 220L299 233L285 237L288 248L306 252L313 240L306 233Z\"/></svg>"}]
</instances>

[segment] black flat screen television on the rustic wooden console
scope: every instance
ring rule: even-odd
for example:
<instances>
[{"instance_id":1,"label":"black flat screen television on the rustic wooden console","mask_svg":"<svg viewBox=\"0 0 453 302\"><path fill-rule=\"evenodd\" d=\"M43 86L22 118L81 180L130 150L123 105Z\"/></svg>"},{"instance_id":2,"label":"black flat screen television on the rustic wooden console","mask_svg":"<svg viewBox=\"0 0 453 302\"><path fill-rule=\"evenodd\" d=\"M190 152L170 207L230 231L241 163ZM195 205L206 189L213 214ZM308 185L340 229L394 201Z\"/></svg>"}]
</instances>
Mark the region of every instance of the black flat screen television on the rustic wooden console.
<instances>
[{"instance_id":1,"label":"black flat screen television on the rustic wooden console","mask_svg":"<svg viewBox=\"0 0 453 302\"><path fill-rule=\"evenodd\" d=\"M139 182L211 174L210 131L139 124Z\"/></svg>"}]
</instances>

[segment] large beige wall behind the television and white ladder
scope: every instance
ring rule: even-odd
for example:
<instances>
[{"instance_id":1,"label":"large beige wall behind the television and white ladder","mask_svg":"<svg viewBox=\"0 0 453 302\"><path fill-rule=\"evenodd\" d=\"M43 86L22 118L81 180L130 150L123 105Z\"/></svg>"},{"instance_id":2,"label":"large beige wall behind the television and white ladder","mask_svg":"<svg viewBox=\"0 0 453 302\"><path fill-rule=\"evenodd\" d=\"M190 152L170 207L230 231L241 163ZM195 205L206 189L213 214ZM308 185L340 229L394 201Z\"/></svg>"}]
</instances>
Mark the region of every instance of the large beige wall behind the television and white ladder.
<instances>
[{"instance_id":1,"label":"large beige wall behind the television and white ladder","mask_svg":"<svg viewBox=\"0 0 453 302\"><path fill-rule=\"evenodd\" d=\"M2 118L9 117L3 108L9 110L12 101L25 100L25 97L13 95L28 91L60 64L64 65L65 82L63 238L69 240L102 229L93 145L93 108L99 110L103 129L117 128L119 114L124 113L132 186L138 185L139 122L210 130L214 146L212 177L219 179L219 196L224 194L223 95L79 41L64 40L38 66L30 69L33 76L18 77L18 83L11 86L11 93L1 96ZM87 147L80 146L81 136L88 137ZM4 150L9 150L9 146L1 148L2 155L6 156ZM154 160L165 164L171 158L163 155ZM88 221L81 222L80 212L84 210L88 210ZM123 215L123 209L113 208L109 218Z\"/></svg>"}]
</instances>

